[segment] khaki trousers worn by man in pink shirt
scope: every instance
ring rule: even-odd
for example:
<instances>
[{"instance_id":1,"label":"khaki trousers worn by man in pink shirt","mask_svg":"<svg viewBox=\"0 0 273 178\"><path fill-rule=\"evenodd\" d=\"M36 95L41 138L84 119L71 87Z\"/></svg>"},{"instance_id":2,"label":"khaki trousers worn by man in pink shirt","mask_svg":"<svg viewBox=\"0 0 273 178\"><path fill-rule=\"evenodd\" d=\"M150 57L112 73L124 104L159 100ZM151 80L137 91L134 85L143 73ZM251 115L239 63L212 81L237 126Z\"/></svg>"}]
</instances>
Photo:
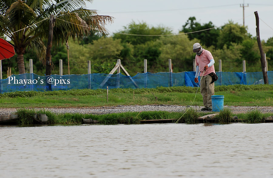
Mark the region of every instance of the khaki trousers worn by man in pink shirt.
<instances>
[{"instance_id":1,"label":"khaki trousers worn by man in pink shirt","mask_svg":"<svg viewBox=\"0 0 273 178\"><path fill-rule=\"evenodd\" d=\"M211 96L214 95L214 82L211 83L210 75L203 76L200 81L200 91L203 96L203 104L206 109L212 108Z\"/></svg>"}]
</instances>

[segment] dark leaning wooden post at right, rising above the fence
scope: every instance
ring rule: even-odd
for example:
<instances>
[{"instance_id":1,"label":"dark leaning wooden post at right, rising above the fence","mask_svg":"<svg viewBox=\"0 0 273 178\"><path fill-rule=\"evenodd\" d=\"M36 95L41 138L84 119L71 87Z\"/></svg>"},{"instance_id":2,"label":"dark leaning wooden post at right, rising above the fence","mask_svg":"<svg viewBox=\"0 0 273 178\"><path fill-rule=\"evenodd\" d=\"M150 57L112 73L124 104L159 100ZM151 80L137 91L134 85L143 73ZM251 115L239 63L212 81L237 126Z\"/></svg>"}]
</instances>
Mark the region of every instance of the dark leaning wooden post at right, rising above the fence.
<instances>
[{"instance_id":1,"label":"dark leaning wooden post at right, rising above the fence","mask_svg":"<svg viewBox=\"0 0 273 178\"><path fill-rule=\"evenodd\" d=\"M268 84L268 76L267 76L267 72L266 72L266 65L265 65L265 53L264 50L261 46L261 39L260 39L260 29L259 29L259 16L258 16L258 12L255 11L255 18L256 18L256 38L257 38L257 43L258 43L258 47L260 50L260 55L261 55L261 68L262 68L262 72L263 72L263 77L264 77L264 83Z\"/></svg>"}]
</instances>

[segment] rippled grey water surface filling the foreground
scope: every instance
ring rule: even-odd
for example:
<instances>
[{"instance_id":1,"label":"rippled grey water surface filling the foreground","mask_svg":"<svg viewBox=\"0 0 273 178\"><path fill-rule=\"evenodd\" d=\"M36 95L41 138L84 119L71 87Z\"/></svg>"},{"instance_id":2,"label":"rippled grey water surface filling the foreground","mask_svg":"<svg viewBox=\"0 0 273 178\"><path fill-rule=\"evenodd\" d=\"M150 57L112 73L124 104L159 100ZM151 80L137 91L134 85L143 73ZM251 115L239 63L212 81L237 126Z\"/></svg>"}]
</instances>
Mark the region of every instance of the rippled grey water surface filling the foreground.
<instances>
[{"instance_id":1,"label":"rippled grey water surface filling the foreground","mask_svg":"<svg viewBox=\"0 0 273 178\"><path fill-rule=\"evenodd\" d=\"M0 177L273 177L273 124L0 126Z\"/></svg>"}]
</instances>

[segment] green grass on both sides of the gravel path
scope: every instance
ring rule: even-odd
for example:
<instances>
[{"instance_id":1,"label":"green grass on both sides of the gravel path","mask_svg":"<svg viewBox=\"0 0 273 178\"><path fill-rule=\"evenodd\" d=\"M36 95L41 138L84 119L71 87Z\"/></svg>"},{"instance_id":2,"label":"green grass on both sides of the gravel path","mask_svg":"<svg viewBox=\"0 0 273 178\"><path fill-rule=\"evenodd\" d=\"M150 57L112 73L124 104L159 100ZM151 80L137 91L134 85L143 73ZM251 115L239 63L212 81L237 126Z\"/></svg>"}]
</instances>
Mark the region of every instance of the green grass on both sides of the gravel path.
<instances>
[{"instance_id":1,"label":"green grass on both sides of the gravel path","mask_svg":"<svg viewBox=\"0 0 273 178\"><path fill-rule=\"evenodd\" d=\"M46 114L49 118L48 124L81 124L82 118L99 120L102 124L139 124L141 120L151 119L174 119L178 123L200 123L198 117L210 113L198 113L194 109L181 112L150 111L150 112L128 112L105 115L92 115L80 113L56 114L45 109L32 108L58 108L58 107L94 107L94 106L116 106L116 105L191 105L197 87L157 87L155 89L110 89L109 102L106 102L105 89L78 89L59 90L49 92L11 92L0 94L1 108L18 108L20 125L33 124L34 113ZM157 96L157 100L153 94ZM224 95L225 106L273 106L273 85L232 85L216 86L215 95ZM200 89L193 105L202 106ZM26 109L30 108L30 109ZM184 115L183 115L184 114ZM182 116L183 115L183 116ZM272 113L261 113L253 110L246 114L238 114L238 119L246 123L263 123L265 117ZM216 118L215 122L230 123L234 114L231 110L224 108Z\"/></svg>"}]
</instances>

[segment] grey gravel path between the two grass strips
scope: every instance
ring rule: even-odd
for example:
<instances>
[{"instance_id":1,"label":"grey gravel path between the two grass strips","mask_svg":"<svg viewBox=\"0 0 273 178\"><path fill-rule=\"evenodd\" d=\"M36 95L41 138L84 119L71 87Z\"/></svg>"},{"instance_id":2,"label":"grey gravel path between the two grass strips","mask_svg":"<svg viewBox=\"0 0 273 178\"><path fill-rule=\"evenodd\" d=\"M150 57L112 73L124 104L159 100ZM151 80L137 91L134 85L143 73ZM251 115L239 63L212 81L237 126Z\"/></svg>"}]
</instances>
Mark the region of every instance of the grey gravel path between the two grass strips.
<instances>
[{"instance_id":1,"label":"grey gravel path between the two grass strips","mask_svg":"<svg viewBox=\"0 0 273 178\"><path fill-rule=\"evenodd\" d=\"M123 113L123 112L140 112L140 111L169 111L169 112L183 112L188 109L189 106L177 106L177 105L131 105L131 106L103 106L103 107L88 107L88 108L35 108L45 109L54 113L86 113L86 114L110 114L110 113ZM201 111L201 106L192 106L198 112ZM273 113L272 106L224 106L231 109L234 114L247 113L248 111L258 109L262 113ZM16 108L0 108L0 115L8 115L15 113Z\"/></svg>"}]
</instances>

